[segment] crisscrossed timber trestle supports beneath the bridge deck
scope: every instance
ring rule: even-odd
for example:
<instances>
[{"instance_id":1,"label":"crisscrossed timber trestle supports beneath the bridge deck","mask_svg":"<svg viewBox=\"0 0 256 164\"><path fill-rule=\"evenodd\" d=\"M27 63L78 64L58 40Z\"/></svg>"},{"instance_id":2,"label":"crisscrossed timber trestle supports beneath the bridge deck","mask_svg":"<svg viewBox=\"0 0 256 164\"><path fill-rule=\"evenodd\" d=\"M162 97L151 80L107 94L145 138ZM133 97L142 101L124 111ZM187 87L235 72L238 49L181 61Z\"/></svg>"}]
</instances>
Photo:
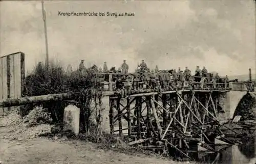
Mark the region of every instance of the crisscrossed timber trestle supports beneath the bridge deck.
<instances>
[{"instance_id":1,"label":"crisscrossed timber trestle supports beneath the bridge deck","mask_svg":"<svg viewBox=\"0 0 256 164\"><path fill-rule=\"evenodd\" d=\"M126 135L134 139L130 145L158 153L174 150L190 158L187 152L192 149L214 151L215 138L223 136L219 130L218 95L218 91L167 91L125 99L110 97L111 133L119 131L123 136L127 131ZM119 129L114 131L117 121Z\"/></svg>"}]
</instances>

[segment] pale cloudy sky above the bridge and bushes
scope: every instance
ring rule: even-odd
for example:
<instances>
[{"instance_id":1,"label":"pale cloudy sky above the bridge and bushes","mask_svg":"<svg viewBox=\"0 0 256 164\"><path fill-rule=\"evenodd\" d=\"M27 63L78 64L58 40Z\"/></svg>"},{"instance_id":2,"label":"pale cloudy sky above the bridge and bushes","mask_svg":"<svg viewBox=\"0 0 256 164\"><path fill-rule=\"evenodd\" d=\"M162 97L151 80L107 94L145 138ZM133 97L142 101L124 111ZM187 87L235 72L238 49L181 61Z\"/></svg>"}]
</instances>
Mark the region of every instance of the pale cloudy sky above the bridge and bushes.
<instances>
[{"instance_id":1,"label":"pale cloudy sky above the bridge and bushes","mask_svg":"<svg viewBox=\"0 0 256 164\"><path fill-rule=\"evenodd\" d=\"M23 51L26 70L45 61L40 1L0 2L0 56ZM221 75L255 73L254 1L46 1L49 57L66 68L132 70L206 66ZM134 13L130 17L58 16L58 12Z\"/></svg>"}]
</instances>

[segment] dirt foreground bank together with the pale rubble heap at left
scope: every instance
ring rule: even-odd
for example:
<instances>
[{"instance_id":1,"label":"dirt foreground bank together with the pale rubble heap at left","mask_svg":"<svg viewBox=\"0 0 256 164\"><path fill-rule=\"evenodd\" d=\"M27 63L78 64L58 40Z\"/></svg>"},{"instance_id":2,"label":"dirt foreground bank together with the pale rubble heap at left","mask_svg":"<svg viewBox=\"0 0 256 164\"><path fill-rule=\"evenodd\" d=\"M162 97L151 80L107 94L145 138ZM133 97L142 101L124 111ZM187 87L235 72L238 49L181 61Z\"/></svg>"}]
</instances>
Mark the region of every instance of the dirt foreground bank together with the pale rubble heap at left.
<instances>
[{"instance_id":1,"label":"dirt foreground bank together with the pale rubble heap at left","mask_svg":"<svg viewBox=\"0 0 256 164\"><path fill-rule=\"evenodd\" d=\"M68 139L65 135L39 137L49 129L49 124L24 126L15 114L0 118L0 163L183 163L153 153L127 153L115 145L104 149L102 144Z\"/></svg>"}]
</instances>

